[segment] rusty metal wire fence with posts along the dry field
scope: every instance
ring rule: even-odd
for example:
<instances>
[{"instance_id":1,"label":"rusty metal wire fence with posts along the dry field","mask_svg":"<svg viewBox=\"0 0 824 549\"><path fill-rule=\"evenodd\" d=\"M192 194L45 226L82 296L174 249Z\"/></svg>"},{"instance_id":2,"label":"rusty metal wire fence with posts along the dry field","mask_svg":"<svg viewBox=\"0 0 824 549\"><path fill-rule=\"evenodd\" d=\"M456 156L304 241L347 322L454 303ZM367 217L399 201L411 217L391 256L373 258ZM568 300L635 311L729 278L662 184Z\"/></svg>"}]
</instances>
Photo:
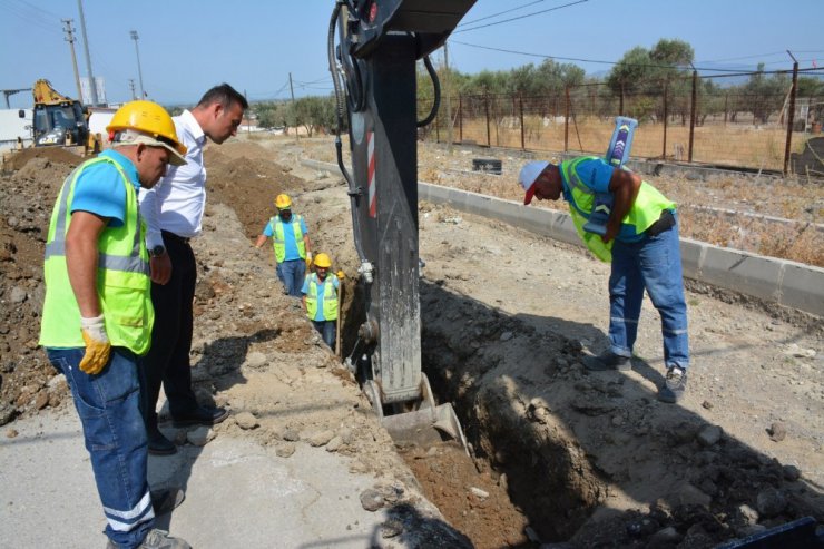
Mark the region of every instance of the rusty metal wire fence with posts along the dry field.
<instances>
[{"instance_id":1,"label":"rusty metal wire fence with posts along the dry field","mask_svg":"<svg viewBox=\"0 0 824 549\"><path fill-rule=\"evenodd\" d=\"M590 84L539 97L460 95L442 99L425 137L449 139L450 111L454 143L602 155L615 117L625 115L639 120L635 158L786 174L791 154L821 135L824 105L797 97L797 68L779 94L747 95L734 87L748 76L693 75L647 84L642 92L616 94L606 84Z\"/></svg>"}]
</instances>

